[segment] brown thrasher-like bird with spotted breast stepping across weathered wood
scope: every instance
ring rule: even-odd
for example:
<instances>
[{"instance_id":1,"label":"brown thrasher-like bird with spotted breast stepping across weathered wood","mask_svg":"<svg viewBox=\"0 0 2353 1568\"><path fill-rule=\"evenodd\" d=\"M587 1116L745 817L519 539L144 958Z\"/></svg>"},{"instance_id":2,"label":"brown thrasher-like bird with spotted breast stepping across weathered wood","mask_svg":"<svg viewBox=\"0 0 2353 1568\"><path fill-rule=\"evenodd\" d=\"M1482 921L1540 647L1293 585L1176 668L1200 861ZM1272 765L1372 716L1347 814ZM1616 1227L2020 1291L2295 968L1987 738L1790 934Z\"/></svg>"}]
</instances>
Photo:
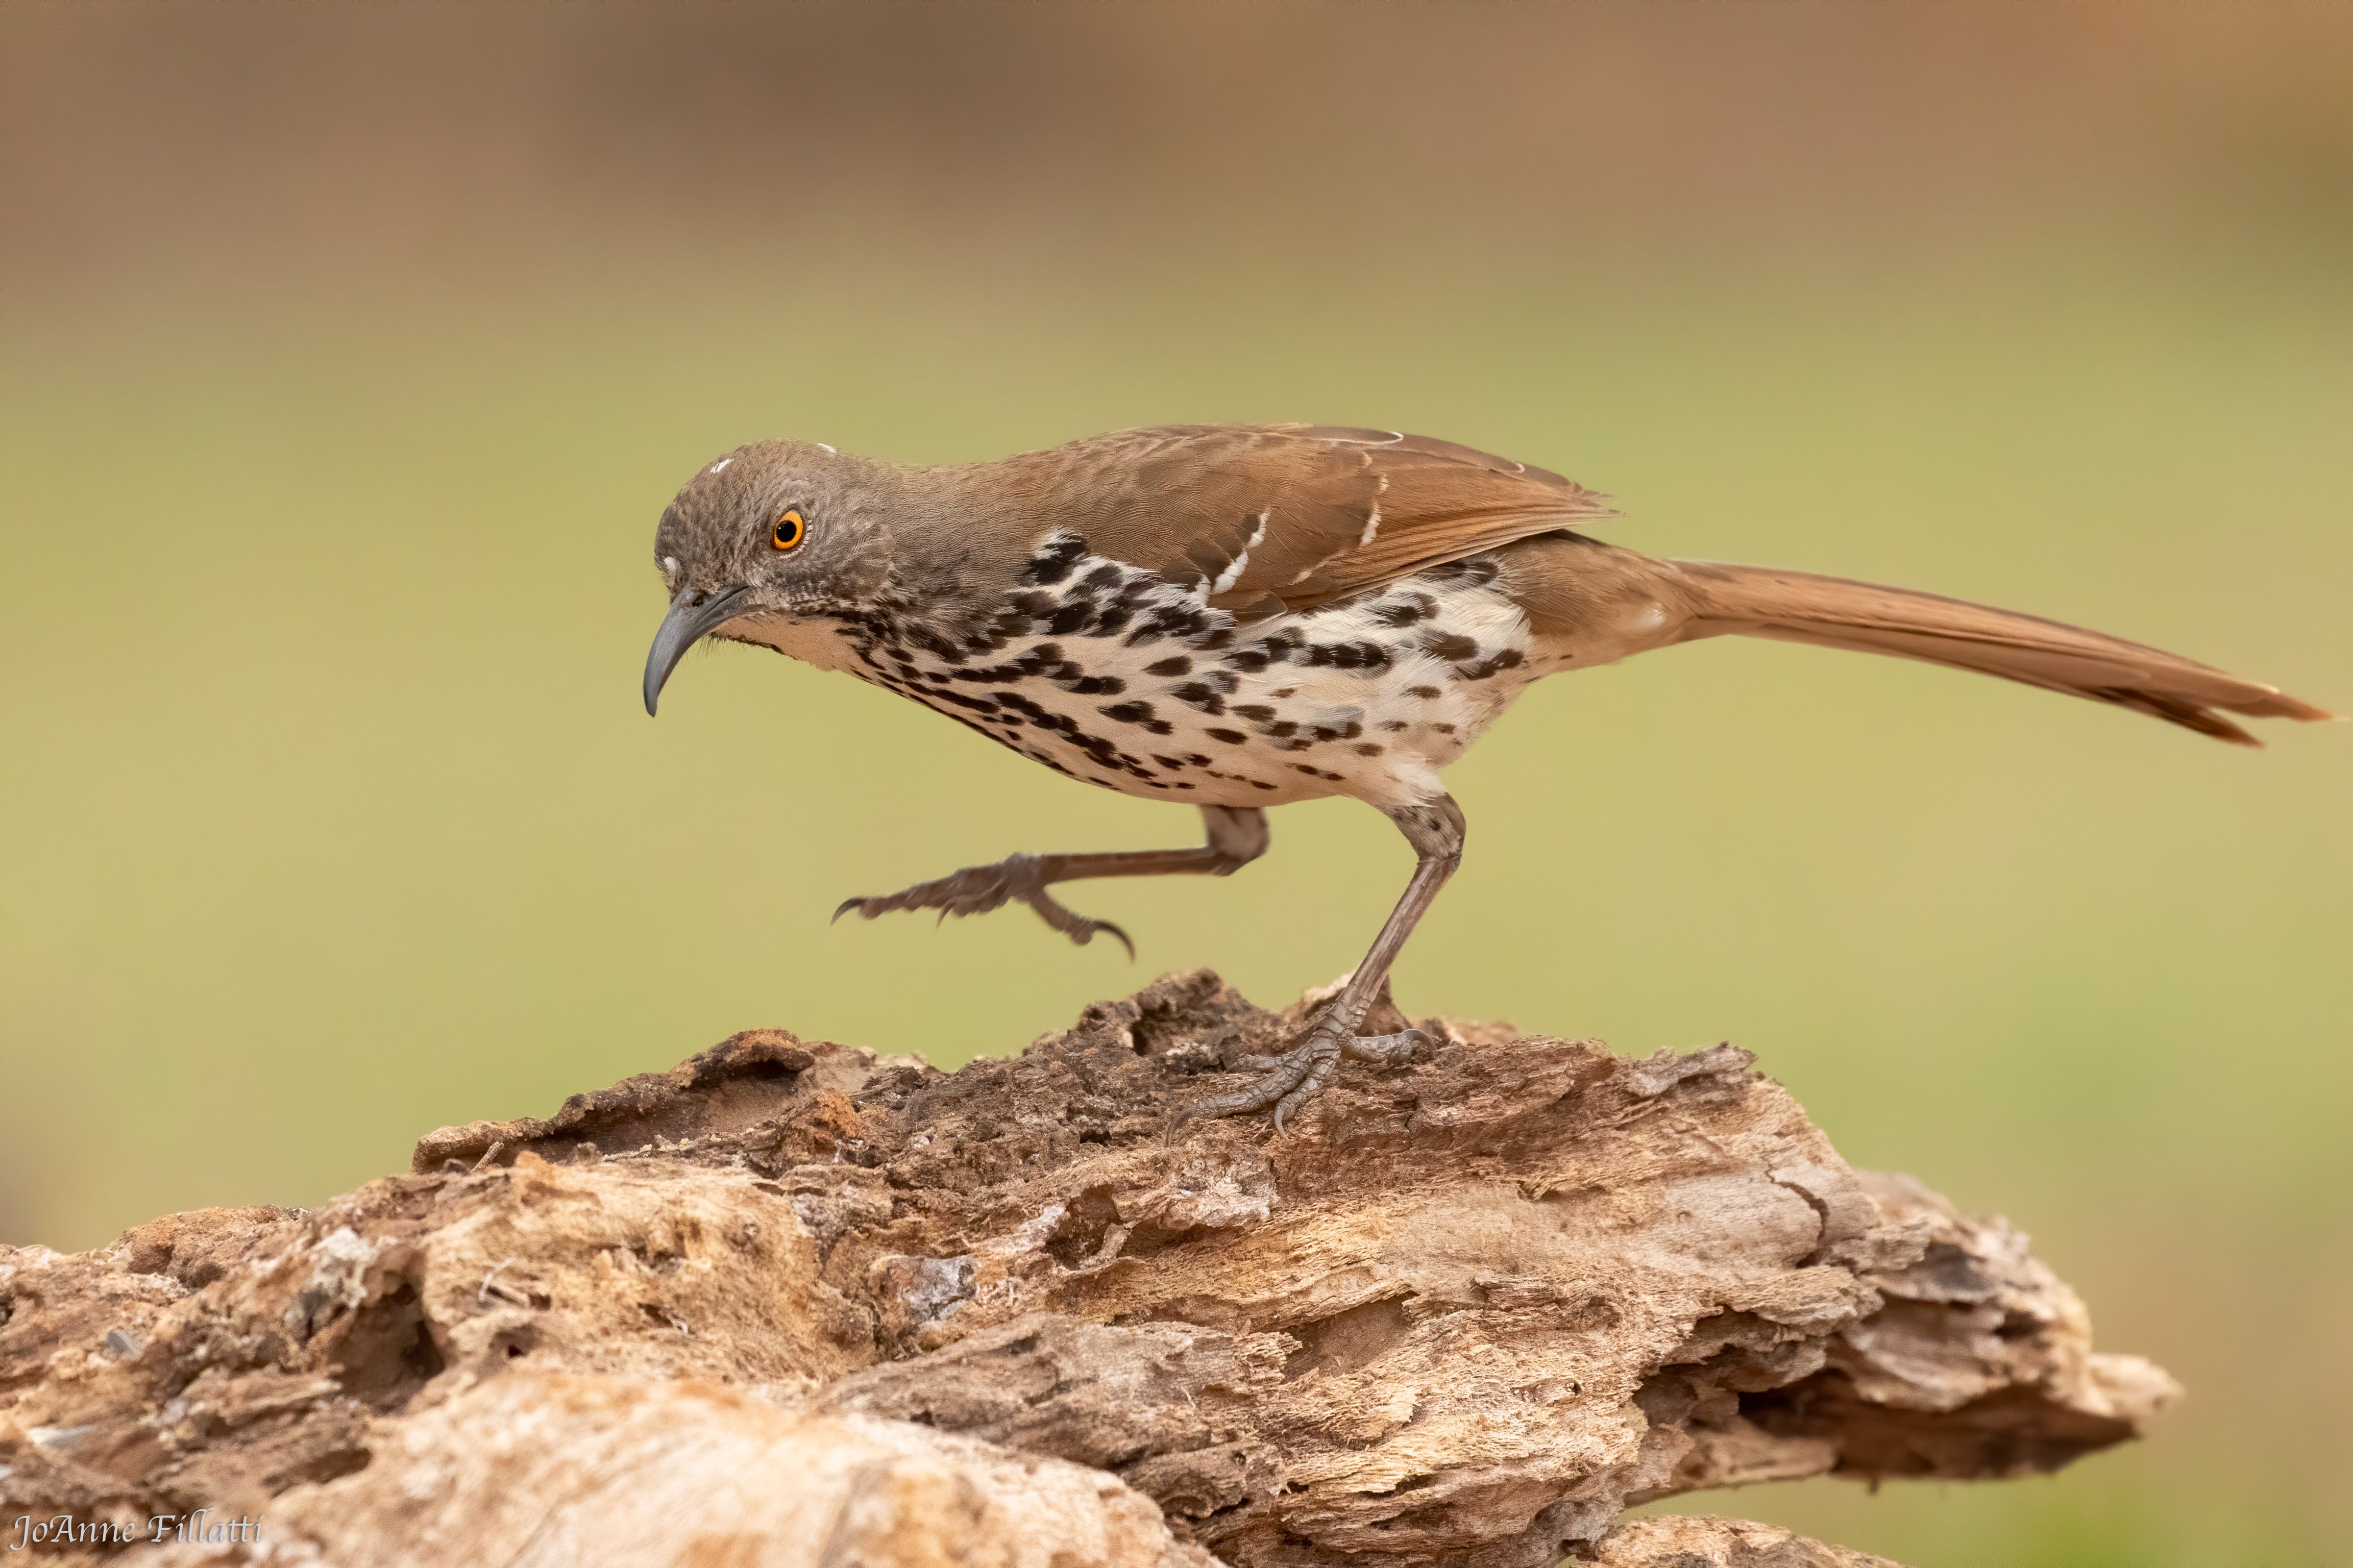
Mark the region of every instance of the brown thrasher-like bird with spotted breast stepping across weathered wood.
<instances>
[{"instance_id":1,"label":"brown thrasher-like bird with spotted breast stepping across weathered wood","mask_svg":"<svg viewBox=\"0 0 2353 1568\"><path fill-rule=\"evenodd\" d=\"M2134 708L2259 745L2217 710L2327 719L2273 686L2082 628L1805 571L1654 559L1581 529L1602 496L1555 473L1391 430L1167 425L995 463L875 463L807 442L739 447L654 534L671 614L645 710L701 637L889 686L1056 773L1200 806L1200 849L1012 856L856 910L979 914L1009 900L1075 943L1111 931L1047 889L1224 877L1266 853L1266 806L1351 795L1421 858L1365 961L1245 1088L1275 1107L1344 1056L1414 922L1461 860L1438 773L1529 682L1741 632L1897 654ZM1129 945L1129 952L1134 947Z\"/></svg>"}]
</instances>

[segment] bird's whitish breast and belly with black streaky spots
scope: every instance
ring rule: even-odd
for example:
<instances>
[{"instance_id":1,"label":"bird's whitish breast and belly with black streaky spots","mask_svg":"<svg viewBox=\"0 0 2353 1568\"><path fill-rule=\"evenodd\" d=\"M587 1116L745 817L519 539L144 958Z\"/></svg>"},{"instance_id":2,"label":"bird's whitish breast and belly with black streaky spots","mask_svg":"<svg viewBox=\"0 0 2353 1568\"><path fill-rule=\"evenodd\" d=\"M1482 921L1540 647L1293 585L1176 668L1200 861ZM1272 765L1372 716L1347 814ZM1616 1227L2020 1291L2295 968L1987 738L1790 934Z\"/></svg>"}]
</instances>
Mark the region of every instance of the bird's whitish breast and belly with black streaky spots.
<instances>
[{"instance_id":1,"label":"bird's whitish breast and belly with black streaky spots","mask_svg":"<svg viewBox=\"0 0 2353 1568\"><path fill-rule=\"evenodd\" d=\"M1438 769L1539 672L1527 616L1497 578L1473 557L1242 628L1200 585L1061 531L1024 564L986 646L859 616L816 663L1122 795L1402 806L1428 799ZM807 658L795 642L784 651Z\"/></svg>"}]
</instances>

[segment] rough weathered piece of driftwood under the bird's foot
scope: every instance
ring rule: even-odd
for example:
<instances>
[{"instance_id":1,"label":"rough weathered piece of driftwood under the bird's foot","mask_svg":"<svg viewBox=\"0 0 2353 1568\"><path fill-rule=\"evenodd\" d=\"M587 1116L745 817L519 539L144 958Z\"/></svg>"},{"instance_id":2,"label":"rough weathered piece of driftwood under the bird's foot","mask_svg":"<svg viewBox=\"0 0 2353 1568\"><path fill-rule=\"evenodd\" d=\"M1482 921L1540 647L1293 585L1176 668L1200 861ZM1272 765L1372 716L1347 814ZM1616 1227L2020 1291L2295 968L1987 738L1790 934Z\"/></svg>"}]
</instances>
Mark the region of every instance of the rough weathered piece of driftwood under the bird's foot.
<instances>
[{"instance_id":1,"label":"rough weathered piece of driftwood under the bird's foot","mask_svg":"<svg viewBox=\"0 0 2353 1568\"><path fill-rule=\"evenodd\" d=\"M953 1074L753 1030L318 1211L0 1248L0 1528L355 1568L1861 1568L1619 1512L2038 1474L2174 1394L2017 1229L1847 1168L1729 1046L1428 1020L1282 1135L1174 1124L1301 1009L1169 976Z\"/></svg>"}]
</instances>

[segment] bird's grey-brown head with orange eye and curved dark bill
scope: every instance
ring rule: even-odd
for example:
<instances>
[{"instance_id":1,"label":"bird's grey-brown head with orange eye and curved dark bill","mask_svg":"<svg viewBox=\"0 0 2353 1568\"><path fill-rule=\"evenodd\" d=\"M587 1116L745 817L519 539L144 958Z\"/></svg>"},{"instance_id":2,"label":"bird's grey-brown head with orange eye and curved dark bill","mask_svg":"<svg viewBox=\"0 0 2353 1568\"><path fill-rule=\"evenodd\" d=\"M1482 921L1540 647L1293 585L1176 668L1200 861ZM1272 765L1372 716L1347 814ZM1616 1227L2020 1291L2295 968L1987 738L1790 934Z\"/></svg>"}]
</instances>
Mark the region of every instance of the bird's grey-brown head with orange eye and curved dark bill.
<instances>
[{"instance_id":1,"label":"bird's grey-brown head with orange eye and curved dark bill","mask_svg":"<svg viewBox=\"0 0 2353 1568\"><path fill-rule=\"evenodd\" d=\"M671 614L645 658L645 710L696 642L736 621L856 611L889 576L894 470L816 442L755 442L704 465L654 529Z\"/></svg>"}]
</instances>

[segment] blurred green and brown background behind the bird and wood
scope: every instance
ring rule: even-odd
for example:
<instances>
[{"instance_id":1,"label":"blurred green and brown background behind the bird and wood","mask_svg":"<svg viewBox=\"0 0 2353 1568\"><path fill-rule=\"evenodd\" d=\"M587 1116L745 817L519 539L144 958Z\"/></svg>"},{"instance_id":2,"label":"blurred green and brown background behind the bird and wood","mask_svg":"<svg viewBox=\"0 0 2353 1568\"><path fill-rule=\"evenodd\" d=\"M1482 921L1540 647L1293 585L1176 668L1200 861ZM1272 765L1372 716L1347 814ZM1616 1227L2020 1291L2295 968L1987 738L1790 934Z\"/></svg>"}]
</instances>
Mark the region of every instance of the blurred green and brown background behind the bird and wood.
<instances>
[{"instance_id":1,"label":"blurred green and brown background behind the bird and wood","mask_svg":"<svg viewBox=\"0 0 2353 1568\"><path fill-rule=\"evenodd\" d=\"M953 1065L1348 969L1233 882L826 926L1160 811L751 649L652 524L762 435L1402 425L1624 543L2353 705L2353 9L0 9L0 1237L313 1204L748 1025ZM1414 1011L1734 1039L2191 1387L2052 1481L1706 1497L1918 1568L2353 1561L2353 733L1713 642L1452 773ZM1680 1505L1689 1507L1689 1505Z\"/></svg>"}]
</instances>

